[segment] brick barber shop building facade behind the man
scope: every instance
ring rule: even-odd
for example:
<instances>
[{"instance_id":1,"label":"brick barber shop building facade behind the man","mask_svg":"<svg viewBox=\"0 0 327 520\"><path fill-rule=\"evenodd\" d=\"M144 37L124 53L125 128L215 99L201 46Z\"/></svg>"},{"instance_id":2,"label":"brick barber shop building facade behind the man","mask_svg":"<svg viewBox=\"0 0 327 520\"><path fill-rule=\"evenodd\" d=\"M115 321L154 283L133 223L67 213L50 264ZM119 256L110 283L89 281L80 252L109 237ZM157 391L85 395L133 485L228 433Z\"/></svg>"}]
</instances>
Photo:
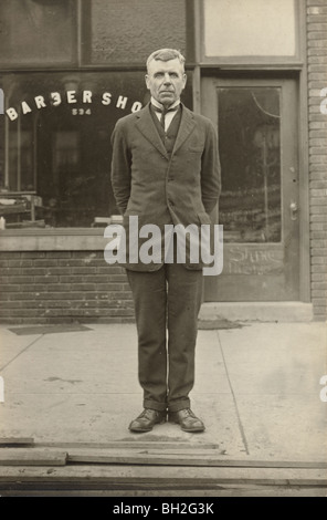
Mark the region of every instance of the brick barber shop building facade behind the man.
<instances>
[{"instance_id":1,"label":"brick barber shop building facade behind the man","mask_svg":"<svg viewBox=\"0 0 327 520\"><path fill-rule=\"evenodd\" d=\"M2 0L0 24L2 323L134 320L104 259L110 134L166 46L219 134L223 271L204 304L326 319L327 0Z\"/></svg>"}]
</instances>

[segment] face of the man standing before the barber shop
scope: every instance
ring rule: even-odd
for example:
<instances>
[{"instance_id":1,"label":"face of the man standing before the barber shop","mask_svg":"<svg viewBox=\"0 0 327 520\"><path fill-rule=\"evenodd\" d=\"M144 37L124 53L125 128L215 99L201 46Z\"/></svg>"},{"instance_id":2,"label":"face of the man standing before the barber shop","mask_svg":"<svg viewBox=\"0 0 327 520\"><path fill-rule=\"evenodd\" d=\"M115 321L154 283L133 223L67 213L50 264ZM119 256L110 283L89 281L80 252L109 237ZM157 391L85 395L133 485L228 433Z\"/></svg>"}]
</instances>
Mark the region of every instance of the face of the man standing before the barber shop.
<instances>
[{"instance_id":1,"label":"face of the man standing before the barber shop","mask_svg":"<svg viewBox=\"0 0 327 520\"><path fill-rule=\"evenodd\" d=\"M166 62L150 61L146 84L151 96L164 106L168 107L179 100L186 83L187 76L178 58Z\"/></svg>"}]
</instances>

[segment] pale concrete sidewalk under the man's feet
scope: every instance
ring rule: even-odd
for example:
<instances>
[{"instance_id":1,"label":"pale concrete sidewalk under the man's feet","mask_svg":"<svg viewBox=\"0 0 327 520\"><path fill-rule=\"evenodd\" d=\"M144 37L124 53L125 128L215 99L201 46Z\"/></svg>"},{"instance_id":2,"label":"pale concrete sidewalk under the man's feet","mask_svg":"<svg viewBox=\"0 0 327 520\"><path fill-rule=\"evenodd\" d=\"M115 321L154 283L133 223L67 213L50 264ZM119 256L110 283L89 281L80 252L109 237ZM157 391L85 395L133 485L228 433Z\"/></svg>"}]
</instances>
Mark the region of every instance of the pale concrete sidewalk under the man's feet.
<instances>
[{"instance_id":1,"label":"pale concrete sidewalk under the man's feet","mask_svg":"<svg viewBox=\"0 0 327 520\"><path fill-rule=\"evenodd\" d=\"M135 325L52 329L33 335L0 329L0 437L213 443L229 458L327 460L325 323L200 330L191 401L207 429L198 435L172 424L128 431L143 408Z\"/></svg>"}]
</instances>

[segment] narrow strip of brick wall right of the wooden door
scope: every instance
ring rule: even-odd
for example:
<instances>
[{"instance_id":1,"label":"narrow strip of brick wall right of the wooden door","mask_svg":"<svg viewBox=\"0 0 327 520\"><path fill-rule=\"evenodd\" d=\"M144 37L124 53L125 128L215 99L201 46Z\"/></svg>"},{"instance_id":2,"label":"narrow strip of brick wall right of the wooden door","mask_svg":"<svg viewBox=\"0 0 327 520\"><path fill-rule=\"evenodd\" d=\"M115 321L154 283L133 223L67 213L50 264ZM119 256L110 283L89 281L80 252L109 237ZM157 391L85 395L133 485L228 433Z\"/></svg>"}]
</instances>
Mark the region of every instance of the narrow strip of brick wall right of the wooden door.
<instances>
[{"instance_id":1,"label":"narrow strip of brick wall right of the wooden door","mask_svg":"<svg viewBox=\"0 0 327 520\"><path fill-rule=\"evenodd\" d=\"M312 301L316 319L327 308L327 0L307 0Z\"/></svg>"}]
</instances>

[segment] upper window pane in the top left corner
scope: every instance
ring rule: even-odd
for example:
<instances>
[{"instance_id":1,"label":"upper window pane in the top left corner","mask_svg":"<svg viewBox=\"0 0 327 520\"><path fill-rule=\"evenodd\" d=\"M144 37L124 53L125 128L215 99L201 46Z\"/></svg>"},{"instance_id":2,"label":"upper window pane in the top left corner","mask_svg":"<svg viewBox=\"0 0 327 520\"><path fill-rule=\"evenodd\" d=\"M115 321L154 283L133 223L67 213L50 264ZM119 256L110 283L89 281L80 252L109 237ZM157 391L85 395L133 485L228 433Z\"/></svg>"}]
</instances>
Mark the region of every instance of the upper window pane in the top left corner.
<instances>
[{"instance_id":1,"label":"upper window pane in the top left corner","mask_svg":"<svg viewBox=\"0 0 327 520\"><path fill-rule=\"evenodd\" d=\"M75 61L76 2L1 0L0 63L57 65Z\"/></svg>"}]
</instances>

